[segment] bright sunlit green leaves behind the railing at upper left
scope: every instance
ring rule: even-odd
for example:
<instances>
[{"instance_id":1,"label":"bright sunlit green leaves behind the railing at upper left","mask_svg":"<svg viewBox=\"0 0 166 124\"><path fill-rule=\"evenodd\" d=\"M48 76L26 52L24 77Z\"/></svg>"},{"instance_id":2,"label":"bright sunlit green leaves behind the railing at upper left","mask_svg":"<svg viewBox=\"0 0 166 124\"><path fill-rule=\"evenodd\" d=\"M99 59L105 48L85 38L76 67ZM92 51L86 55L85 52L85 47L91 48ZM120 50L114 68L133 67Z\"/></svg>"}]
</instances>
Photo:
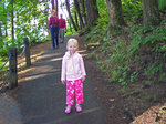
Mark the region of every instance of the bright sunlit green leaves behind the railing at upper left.
<instances>
[{"instance_id":1,"label":"bright sunlit green leaves behind the railing at upper left","mask_svg":"<svg viewBox=\"0 0 166 124\"><path fill-rule=\"evenodd\" d=\"M23 40L27 37L30 45L33 45L34 41L45 42L48 40L48 7L45 1L37 0L14 0L13 7L11 0L0 1L0 23L3 32L0 37L0 58L8 58L9 48L15 46L18 51L22 50ZM14 14L14 39L11 34L12 12ZM0 65L4 60L0 60Z\"/></svg>"}]
</instances>

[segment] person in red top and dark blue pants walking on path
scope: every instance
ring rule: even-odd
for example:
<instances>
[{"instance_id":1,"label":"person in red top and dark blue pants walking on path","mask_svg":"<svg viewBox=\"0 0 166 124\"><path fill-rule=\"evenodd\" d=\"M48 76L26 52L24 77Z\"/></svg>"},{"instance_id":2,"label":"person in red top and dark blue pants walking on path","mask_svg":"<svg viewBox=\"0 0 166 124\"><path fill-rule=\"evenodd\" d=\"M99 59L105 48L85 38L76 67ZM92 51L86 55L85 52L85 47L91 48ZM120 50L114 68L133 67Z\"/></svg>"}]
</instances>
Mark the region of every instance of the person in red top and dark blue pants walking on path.
<instances>
[{"instance_id":1,"label":"person in red top and dark blue pants walking on path","mask_svg":"<svg viewBox=\"0 0 166 124\"><path fill-rule=\"evenodd\" d=\"M52 40L52 46L55 49L55 43L56 48L59 48L59 18L56 16L56 11L52 10L52 16L50 17L49 20L49 31L51 32L51 40ZM55 40L55 42L54 42Z\"/></svg>"}]
</instances>

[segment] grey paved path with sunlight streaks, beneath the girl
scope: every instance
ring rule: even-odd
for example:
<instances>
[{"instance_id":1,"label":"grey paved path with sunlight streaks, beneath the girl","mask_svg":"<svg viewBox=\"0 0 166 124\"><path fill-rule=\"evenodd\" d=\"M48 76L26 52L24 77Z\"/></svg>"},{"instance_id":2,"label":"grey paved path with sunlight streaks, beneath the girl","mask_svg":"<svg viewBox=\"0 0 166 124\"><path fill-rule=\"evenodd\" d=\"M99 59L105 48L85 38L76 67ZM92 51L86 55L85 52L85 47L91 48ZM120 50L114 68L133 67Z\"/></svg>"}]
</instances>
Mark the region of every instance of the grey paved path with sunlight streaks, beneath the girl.
<instances>
[{"instance_id":1,"label":"grey paved path with sunlight streaks, beneath the girl","mask_svg":"<svg viewBox=\"0 0 166 124\"><path fill-rule=\"evenodd\" d=\"M89 76L84 82L83 111L64 113L66 92L65 86L61 83L61 63L66 51L65 43L56 50L51 50L48 45L43 58L35 62L30 68L30 73L19 81L19 87L11 91L13 95L10 97L14 101L13 106L17 106L18 113L21 114L15 117L12 113L11 117L21 121L19 124L107 124L105 111L97 100ZM89 66L85 65L85 68Z\"/></svg>"}]
</instances>

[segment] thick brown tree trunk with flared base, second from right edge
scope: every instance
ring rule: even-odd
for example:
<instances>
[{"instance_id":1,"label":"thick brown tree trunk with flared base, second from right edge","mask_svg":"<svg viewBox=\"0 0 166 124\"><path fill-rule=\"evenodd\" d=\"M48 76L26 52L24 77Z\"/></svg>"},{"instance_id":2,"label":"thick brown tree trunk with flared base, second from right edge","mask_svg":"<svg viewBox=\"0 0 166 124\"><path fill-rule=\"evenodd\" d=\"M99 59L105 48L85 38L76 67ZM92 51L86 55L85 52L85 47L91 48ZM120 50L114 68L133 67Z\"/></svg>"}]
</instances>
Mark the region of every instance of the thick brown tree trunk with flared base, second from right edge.
<instances>
[{"instance_id":1,"label":"thick brown tree trunk with flared base, second from right edge","mask_svg":"<svg viewBox=\"0 0 166 124\"><path fill-rule=\"evenodd\" d=\"M106 0L108 11L108 31L113 32L121 25L125 25L124 18L122 14L121 0Z\"/></svg>"}]
</instances>

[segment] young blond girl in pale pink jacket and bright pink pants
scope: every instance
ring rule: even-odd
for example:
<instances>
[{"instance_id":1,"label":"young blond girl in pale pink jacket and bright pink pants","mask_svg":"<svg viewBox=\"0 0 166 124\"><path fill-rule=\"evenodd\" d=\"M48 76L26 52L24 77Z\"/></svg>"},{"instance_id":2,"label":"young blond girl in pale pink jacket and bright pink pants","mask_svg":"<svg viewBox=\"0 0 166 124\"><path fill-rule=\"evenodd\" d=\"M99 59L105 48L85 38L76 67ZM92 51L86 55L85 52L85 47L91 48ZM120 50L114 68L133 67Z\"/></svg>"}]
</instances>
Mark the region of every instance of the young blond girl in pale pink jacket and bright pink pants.
<instances>
[{"instance_id":1,"label":"young blond girl in pale pink jacket and bright pink pants","mask_svg":"<svg viewBox=\"0 0 166 124\"><path fill-rule=\"evenodd\" d=\"M65 113L71 113L74 105L74 92L76 97L76 112L81 112L83 104L83 82L85 81L84 62L81 54L77 52L79 43L76 39L70 39L66 44L65 55L62 60L61 81L66 82L66 107Z\"/></svg>"}]
</instances>

